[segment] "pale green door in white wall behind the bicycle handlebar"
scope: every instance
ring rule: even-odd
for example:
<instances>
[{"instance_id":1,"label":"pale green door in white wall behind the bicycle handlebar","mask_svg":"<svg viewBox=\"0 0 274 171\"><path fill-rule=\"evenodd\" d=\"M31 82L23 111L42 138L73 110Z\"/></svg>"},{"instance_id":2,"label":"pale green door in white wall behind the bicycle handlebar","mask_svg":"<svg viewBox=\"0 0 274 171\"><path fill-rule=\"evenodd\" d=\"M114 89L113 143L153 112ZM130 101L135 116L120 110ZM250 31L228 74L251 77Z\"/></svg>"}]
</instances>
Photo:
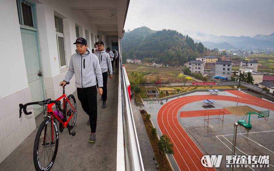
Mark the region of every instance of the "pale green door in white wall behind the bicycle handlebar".
<instances>
[{"instance_id":1,"label":"pale green door in white wall behind the bicycle handlebar","mask_svg":"<svg viewBox=\"0 0 274 171\"><path fill-rule=\"evenodd\" d=\"M23 43L26 72L32 101L42 101L45 99L43 73L37 43L37 32L27 29L20 29ZM33 105L34 116L38 116L43 107Z\"/></svg>"}]
</instances>

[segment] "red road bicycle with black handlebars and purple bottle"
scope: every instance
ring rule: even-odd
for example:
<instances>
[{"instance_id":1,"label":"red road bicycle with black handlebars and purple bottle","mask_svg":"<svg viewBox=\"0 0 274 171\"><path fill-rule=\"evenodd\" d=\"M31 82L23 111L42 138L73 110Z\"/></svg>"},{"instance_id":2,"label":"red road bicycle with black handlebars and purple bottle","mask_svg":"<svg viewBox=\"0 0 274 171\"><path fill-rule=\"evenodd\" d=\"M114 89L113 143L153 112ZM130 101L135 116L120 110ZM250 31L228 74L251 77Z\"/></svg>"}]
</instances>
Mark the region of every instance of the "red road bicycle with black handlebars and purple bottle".
<instances>
[{"instance_id":1,"label":"red road bicycle with black handlebars and purple bottle","mask_svg":"<svg viewBox=\"0 0 274 171\"><path fill-rule=\"evenodd\" d=\"M67 83L69 84L69 82ZM66 86L66 84L65 84ZM19 104L19 118L21 118L22 109L26 115L30 115L32 112L27 112L26 107L32 104L39 104L46 107L47 115L44 110L44 121L38 128L34 147L33 147L33 161L36 170L50 170L55 161L58 152L58 126L55 121L59 121L59 130L63 132L64 128L68 128L69 135L74 136L75 131L70 132L75 125L77 116L77 106L75 97L70 94L65 94L65 86L63 87L63 95L56 100L47 99L44 101L31 102L26 104ZM63 98L63 108L61 108L61 99ZM56 110L54 112L52 106L55 104ZM45 108L44 108L45 109ZM59 115L60 114L60 115Z\"/></svg>"}]
</instances>

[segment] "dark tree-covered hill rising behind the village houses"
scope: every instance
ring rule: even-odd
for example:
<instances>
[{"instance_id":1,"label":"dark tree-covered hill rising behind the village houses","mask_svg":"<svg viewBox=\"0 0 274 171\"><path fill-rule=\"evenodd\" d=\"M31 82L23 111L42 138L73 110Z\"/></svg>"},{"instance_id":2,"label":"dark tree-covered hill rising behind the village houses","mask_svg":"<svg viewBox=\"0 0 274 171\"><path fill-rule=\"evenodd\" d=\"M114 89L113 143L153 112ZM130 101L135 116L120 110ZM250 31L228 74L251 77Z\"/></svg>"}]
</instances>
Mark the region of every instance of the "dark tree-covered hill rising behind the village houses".
<instances>
[{"instance_id":1,"label":"dark tree-covered hill rising behind the village houses","mask_svg":"<svg viewBox=\"0 0 274 171\"><path fill-rule=\"evenodd\" d=\"M194 43L191 37L176 30L154 31L145 26L125 32L121 46L123 59L133 58L171 66L195 60L207 50L202 43Z\"/></svg>"}]
</instances>

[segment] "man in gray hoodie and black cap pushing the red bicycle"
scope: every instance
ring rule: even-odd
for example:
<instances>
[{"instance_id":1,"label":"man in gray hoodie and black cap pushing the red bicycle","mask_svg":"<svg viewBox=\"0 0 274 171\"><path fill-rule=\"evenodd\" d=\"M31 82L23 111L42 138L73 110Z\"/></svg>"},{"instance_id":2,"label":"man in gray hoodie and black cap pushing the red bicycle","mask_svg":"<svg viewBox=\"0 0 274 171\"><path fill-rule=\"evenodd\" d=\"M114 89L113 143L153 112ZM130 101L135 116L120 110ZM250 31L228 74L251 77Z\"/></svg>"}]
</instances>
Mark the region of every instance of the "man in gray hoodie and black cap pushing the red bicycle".
<instances>
[{"instance_id":1,"label":"man in gray hoodie and black cap pushing the red bicycle","mask_svg":"<svg viewBox=\"0 0 274 171\"><path fill-rule=\"evenodd\" d=\"M94 143L97 127L97 92L99 95L103 94L102 72L99 60L91 53L86 39L80 37L73 44L76 44L76 53L71 56L68 73L59 85L63 87L75 74L78 99L83 110L89 115L88 124L91 129L89 142ZM98 84L98 91L96 84Z\"/></svg>"}]
</instances>

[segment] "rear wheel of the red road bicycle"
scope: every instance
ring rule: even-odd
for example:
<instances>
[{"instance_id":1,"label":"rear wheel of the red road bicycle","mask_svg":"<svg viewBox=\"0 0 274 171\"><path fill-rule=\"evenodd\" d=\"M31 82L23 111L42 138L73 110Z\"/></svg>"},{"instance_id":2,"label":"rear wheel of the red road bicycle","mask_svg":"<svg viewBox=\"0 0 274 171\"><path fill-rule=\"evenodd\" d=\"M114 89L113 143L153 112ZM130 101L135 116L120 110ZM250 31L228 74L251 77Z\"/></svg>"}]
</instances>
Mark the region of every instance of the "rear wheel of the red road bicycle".
<instances>
[{"instance_id":1,"label":"rear wheel of the red road bicycle","mask_svg":"<svg viewBox=\"0 0 274 171\"><path fill-rule=\"evenodd\" d=\"M77 105L76 105L75 97L72 94L68 95L68 101L66 101L66 104L65 104L65 118L66 118L66 121L68 121L68 118L71 116L70 120L68 121L68 124L69 124L69 129L72 129L76 122Z\"/></svg>"}]
</instances>

